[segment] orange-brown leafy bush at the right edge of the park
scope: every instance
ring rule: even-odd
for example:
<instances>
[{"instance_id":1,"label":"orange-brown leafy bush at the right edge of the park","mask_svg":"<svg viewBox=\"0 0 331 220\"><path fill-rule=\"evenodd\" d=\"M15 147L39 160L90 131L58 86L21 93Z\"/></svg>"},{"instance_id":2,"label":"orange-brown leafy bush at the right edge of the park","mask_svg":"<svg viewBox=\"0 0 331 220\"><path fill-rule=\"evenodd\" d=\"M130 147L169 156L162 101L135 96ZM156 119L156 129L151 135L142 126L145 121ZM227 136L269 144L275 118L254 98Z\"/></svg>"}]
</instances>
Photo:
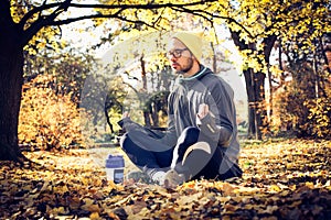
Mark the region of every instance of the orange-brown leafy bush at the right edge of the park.
<instances>
[{"instance_id":1,"label":"orange-brown leafy bush at the right edge of the park","mask_svg":"<svg viewBox=\"0 0 331 220\"><path fill-rule=\"evenodd\" d=\"M306 68L305 68L306 67ZM331 81L328 73L319 76L301 65L291 72L292 79L275 92L273 125L276 133L295 132L297 136L329 139L331 136Z\"/></svg>"}]
</instances>

